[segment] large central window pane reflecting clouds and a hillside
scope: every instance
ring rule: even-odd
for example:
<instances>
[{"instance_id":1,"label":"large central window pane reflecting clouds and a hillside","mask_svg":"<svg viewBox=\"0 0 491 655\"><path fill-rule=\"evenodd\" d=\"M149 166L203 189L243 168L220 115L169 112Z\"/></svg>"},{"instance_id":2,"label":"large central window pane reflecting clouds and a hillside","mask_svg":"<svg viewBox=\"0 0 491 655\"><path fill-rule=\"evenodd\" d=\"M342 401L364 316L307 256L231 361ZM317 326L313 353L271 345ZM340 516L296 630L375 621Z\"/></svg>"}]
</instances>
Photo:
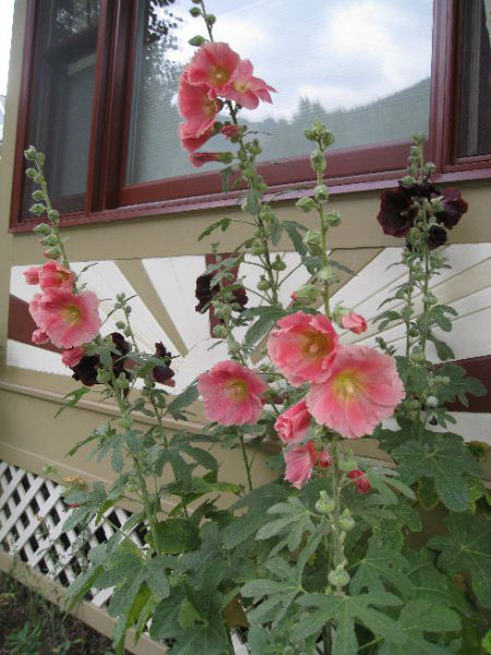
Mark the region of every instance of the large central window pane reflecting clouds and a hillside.
<instances>
[{"instance_id":1,"label":"large central window pane reflecting clouds and a hillside","mask_svg":"<svg viewBox=\"0 0 491 655\"><path fill-rule=\"evenodd\" d=\"M409 139L428 132L432 0L208 0L227 40L254 72L277 88L274 104L244 110L263 132L268 159L309 152L303 130L316 117L336 133L336 147ZM177 81L203 34L189 2L147 0L139 61L128 182L195 172L177 140ZM212 146L213 144L213 146ZM225 147L215 136L211 150Z\"/></svg>"}]
</instances>

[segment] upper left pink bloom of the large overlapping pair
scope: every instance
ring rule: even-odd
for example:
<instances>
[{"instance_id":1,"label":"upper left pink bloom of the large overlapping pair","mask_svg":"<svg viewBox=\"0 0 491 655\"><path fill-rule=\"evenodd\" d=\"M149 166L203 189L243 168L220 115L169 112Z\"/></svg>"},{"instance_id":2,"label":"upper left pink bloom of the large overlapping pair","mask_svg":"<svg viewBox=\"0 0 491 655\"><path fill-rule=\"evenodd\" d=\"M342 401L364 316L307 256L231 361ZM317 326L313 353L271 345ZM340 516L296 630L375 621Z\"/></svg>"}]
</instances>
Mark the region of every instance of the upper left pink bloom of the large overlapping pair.
<instances>
[{"instance_id":1,"label":"upper left pink bloom of the large overlapping pair","mask_svg":"<svg viewBox=\"0 0 491 655\"><path fill-rule=\"evenodd\" d=\"M267 352L290 384L322 382L338 348L331 321L322 314L298 311L280 319L271 332Z\"/></svg>"}]
</instances>

